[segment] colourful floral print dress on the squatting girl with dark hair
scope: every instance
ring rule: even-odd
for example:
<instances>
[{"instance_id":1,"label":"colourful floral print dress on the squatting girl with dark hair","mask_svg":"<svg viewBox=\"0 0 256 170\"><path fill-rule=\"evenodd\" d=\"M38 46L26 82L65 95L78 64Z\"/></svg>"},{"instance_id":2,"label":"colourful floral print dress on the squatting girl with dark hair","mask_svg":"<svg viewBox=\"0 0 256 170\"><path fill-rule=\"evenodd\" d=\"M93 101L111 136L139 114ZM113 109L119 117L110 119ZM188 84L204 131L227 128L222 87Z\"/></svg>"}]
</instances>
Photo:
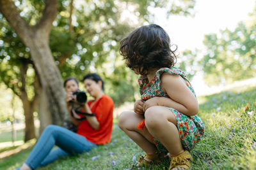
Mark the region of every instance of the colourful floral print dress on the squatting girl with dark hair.
<instances>
[{"instance_id":1,"label":"colourful floral print dress on the squatting girl with dark hair","mask_svg":"<svg viewBox=\"0 0 256 170\"><path fill-rule=\"evenodd\" d=\"M164 72L180 75L186 81L186 85L196 97L195 91L183 71L180 71L180 69L177 69L176 67L163 67L156 72L155 78L149 83L147 82L146 76L140 76L138 82L140 85L141 100L147 101L147 99L152 97L169 97L168 94L161 89L160 77ZM170 113L172 112L175 115L177 120L177 129L179 131L182 146L186 150L191 150L195 144L200 141L202 136L204 136L204 123L197 115L188 117L173 108L169 108L169 110ZM159 152L168 153L166 148L164 148L156 138L152 139Z\"/></svg>"}]
</instances>

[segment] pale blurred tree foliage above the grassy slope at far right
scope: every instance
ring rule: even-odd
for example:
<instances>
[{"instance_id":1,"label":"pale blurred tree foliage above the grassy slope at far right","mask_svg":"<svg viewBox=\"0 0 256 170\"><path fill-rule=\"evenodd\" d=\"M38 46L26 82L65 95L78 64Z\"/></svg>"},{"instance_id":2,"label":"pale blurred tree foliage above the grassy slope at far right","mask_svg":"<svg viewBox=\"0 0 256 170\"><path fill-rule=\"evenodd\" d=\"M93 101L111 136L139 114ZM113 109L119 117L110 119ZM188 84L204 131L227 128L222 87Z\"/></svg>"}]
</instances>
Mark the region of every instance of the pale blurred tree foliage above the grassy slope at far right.
<instances>
[{"instance_id":1,"label":"pale blurred tree foliage above the grassy slope at far right","mask_svg":"<svg viewBox=\"0 0 256 170\"><path fill-rule=\"evenodd\" d=\"M234 30L205 35L207 48L200 65L209 85L231 83L256 76L256 9L250 20Z\"/></svg>"}]
</instances>

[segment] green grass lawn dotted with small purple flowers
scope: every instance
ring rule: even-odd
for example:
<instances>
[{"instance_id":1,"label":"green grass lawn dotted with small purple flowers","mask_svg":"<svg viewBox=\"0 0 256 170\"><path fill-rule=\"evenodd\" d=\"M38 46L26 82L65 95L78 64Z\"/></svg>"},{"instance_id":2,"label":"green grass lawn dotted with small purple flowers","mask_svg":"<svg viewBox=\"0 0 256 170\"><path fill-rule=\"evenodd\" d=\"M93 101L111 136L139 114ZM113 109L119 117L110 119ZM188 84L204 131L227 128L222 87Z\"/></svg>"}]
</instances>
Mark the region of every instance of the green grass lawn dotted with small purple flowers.
<instances>
[{"instance_id":1,"label":"green grass lawn dotted with small purple flowers","mask_svg":"<svg viewBox=\"0 0 256 170\"><path fill-rule=\"evenodd\" d=\"M205 136L191 151L194 161L190 169L256 169L255 87L202 96L198 101L198 115L205 123ZM250 108L243 111L246 103L250 104ZM132 169L131 164L144 154L143 150L117 127L116 122L112 141L108 145L57 160L40 169ZM8 165L9 169L20 166L30 150L1 160L0 169L2 166L8 169ZM168 169L168 166L169 162L164 162L145 169Z\"/></svg>"}]
</instances>

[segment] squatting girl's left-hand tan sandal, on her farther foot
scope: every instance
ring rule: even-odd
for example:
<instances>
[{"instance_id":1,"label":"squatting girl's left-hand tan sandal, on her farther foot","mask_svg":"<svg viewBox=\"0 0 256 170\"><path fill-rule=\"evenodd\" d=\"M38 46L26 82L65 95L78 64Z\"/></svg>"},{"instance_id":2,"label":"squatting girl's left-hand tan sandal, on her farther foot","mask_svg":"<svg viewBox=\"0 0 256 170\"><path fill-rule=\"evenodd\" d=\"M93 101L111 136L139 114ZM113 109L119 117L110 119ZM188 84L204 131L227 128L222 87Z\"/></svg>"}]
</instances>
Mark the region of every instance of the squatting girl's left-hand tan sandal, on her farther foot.
<instances>
[{"instance_id":1,"label":"squatting girl's left-hand tan sandal, on her farther foot","mask_svg":"<svg viewBox=\"0 0 256 170\"><path fill-rule=\"evenodd\" d=\"M146 158L146 159L145 159ZM152 164L158 164L165 158L164 153L159 153L158 151L152 155L142 155L138 159L138 164L136 167L148 167Z\"/></svg>"}]
</instances>

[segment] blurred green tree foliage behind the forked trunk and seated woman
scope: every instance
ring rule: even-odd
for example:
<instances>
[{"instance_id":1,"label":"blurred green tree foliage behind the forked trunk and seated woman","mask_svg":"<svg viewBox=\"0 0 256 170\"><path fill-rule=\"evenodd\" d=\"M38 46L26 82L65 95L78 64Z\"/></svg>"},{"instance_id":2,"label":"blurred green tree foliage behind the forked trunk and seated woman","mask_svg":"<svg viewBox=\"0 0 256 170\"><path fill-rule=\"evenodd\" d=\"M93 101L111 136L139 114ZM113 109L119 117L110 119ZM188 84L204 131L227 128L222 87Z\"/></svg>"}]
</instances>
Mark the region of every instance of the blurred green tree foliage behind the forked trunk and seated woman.
<instances>
[{"instance_id":1,"label":"blurred green tree foliage behind the forked trunk and seated woman","mask_svg":"<svg viewBox=\"0 0 256 170\"><path fill-rule=\"evenodd\" d=\"M120 39L135 27L143 25L149 18L148 7L166 8L168 1L58 1L58 14L53 22L49 36L52 57L61 72L61 76L76 76L81 80L89 72L99 73L106 81L106 91L113 97L116 105L134 100L134 92L138 91L137 78L125 67L118 54ZM194 0L173 1L169 14L188 15L193 13ZM36 27L42 17L44 1L15 1L20 16L29 25ZM170 3L169 3L170 5ZM71 10L71 8L74 8ZM19 79L21 60L28 61L29 70L35 69L27 48L13 29L0 14L0 60L2 77L6 85ZM70 24L71 23L71 24ZM20 60L19 60L20 59ZM16 69L15 69L16 68ZM16 70L16 71L15 71ZM8 73L10 72L10 73ZM35 71L32 71L35 73ZM29 72L27 72L28 74ZM33 89L33 75L27 75L28 89ZM7 81L8 80L8 81ZM9 83L8 83L9 82ZM31 91L31 90L30 90ZM29 94L33 97L33 92Z\"/></svg>"}]
</instances>

